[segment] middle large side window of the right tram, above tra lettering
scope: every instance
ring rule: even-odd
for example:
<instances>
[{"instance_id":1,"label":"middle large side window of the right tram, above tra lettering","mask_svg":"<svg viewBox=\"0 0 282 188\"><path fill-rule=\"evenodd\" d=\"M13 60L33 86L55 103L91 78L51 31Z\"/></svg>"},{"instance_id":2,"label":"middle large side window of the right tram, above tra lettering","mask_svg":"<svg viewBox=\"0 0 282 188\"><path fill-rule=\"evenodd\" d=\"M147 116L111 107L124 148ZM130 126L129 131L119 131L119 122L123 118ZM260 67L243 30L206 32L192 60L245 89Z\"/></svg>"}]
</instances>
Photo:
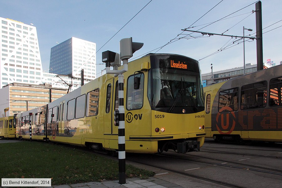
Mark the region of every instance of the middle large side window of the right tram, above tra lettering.
<instances>
[{"instance_id":1,"label":"middle large side window of the right tram, above tra lettering","mask_svg":"<svg viewBox=\"0 0 282 188\"><path fill-rule=\"evenodd\" d=\"M266 81L242 86L240 108L245 110L265 107L266 97Z\"/></svg>"}]
</instances>

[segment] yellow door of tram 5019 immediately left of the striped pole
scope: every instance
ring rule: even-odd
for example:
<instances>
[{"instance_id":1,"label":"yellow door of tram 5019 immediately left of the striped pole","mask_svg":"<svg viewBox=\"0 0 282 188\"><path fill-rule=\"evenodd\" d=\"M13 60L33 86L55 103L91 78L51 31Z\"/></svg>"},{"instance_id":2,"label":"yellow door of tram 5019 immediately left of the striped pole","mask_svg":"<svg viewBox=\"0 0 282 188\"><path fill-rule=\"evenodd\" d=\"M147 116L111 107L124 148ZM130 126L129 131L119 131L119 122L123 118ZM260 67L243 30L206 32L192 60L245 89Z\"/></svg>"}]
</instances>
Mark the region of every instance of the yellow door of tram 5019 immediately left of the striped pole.
<instances>
[{"instance_id":1,"label":"yellow door of tram 5019 immediately left of the striped pole","mask_svg":"<svg viewBox=\"0 0 282 188\"><path fill-rule=\"evenodd\" d=\"M118 127L114 125L114 111L118 110L118 79L112 78L106 82L106 104L104 112L104 134L118 135Z\"/></svg>"}]
</instances>

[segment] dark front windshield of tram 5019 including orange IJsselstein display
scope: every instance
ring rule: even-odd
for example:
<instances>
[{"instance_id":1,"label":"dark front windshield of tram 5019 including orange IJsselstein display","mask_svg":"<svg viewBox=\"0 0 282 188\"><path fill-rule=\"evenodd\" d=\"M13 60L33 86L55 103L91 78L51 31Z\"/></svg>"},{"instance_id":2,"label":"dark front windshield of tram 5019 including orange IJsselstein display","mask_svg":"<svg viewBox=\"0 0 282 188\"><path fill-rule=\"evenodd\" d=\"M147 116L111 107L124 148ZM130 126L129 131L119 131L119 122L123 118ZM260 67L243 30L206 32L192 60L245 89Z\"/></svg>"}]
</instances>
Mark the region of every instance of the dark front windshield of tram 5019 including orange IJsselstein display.
<instances>
[{"instance_id":1,"label":"dark front windshield of tram 5019 including orange IJsselstein display","mask_svg":"<svg viewBox=\"0 0 282 188\"><path fill-rule=\"evenodd\" d=\"M184 56L151 58L149 77L151 92L148 92L148 97L152 109L169 113L204 110L201 75L196 60Z\"/></svg>"}]
</instances>

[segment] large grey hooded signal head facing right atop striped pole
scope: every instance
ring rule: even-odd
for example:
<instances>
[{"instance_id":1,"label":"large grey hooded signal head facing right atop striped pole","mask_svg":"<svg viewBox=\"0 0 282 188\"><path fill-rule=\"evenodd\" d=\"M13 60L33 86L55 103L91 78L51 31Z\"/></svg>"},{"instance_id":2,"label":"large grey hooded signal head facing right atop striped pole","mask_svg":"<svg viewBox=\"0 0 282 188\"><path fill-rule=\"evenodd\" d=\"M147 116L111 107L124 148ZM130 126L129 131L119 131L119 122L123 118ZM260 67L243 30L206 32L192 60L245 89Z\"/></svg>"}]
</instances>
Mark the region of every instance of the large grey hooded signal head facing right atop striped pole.
<instances>
[{"instance_id":1,"label":"large grey hooded signal head facing right atop striped pole","mask_svg":"<svg viewBox=\"0 0 282 188\"><path fill-rule=\"evenodd\" d=\"M133 56L133 53L140 48L144 43L140 42L132 42L132 37L121 39L119 42L119 49L120 49L120 59L129 59Z\"/></svg>"}]
</instances>

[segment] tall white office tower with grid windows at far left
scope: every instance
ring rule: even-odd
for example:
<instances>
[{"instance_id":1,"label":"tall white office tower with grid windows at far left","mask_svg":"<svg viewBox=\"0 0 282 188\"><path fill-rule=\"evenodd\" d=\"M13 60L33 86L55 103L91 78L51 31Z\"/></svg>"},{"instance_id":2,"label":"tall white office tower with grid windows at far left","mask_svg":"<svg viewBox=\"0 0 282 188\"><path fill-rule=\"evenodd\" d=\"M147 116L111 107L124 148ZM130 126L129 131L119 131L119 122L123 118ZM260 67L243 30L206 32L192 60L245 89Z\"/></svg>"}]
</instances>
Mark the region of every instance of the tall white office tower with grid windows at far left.
<instances>
[{"instance_id":1,"label":"tall white office tower with grid windows at far left","mask_svg":"<svg viewBox=\"0 0 282 188\"><path fill-rule=\"evenodd\" d=\"M13 82L41 83L36 27L8 18L0 20L0 88Z\"/></svg>"}]
</instances>

